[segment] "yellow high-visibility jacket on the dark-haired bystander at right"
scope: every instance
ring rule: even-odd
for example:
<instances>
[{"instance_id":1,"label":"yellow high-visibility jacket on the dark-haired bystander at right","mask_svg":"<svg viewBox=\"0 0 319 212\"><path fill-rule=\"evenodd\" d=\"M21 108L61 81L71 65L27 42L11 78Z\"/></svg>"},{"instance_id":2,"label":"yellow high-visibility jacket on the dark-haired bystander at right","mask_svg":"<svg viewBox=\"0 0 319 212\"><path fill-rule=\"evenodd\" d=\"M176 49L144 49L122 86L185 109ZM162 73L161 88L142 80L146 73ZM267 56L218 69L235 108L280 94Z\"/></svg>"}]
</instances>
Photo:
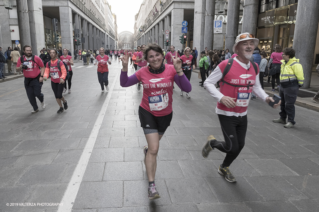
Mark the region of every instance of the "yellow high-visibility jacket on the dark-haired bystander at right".
<instances>
[{"instance_id":1,"label":"yellow high-visibility jacket on the dark-haired bystander at right","mask_svg":"<svg viewBox=\"0 0 319 212\"><path fill-rule=\"evenodd\" d=\"M303 69L299 63L299 59L295 57L291 58L287 63L285 60L280 60L282 62L280 68L280 85L283 87L290 87L294 85L303 85Z\"/></svg>"}]
</instances>

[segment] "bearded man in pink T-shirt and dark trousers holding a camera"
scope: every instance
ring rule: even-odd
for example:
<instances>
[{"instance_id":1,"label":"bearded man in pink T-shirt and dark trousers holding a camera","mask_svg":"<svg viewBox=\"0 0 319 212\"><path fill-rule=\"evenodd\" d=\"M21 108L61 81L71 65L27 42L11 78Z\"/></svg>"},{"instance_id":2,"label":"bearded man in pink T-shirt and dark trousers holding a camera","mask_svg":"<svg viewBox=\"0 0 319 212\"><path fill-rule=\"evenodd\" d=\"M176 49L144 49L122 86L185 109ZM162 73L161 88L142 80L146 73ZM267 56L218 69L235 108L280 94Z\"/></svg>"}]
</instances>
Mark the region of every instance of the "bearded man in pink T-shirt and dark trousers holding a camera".
<instances>
[{"instance_id":1,"label":"bearded man in pink T-shirt and dark trousers holding a camera","mask_svg":"<svg viewBox=\"0 0 319 212\"><path fill-rule=\"evenodd\" d=\"M36 113L39 111L39 109L35 97L40 100L42 109L45 109L45 103L43 100L44 96L41 93L45 68L41 58L32 54L31 46L23 46L23 51L25 55L19 57L16 70L19 72L23 70L26 95L28 96L29 102L33 107L31 113Z\"/></svg>"}]
</instances>

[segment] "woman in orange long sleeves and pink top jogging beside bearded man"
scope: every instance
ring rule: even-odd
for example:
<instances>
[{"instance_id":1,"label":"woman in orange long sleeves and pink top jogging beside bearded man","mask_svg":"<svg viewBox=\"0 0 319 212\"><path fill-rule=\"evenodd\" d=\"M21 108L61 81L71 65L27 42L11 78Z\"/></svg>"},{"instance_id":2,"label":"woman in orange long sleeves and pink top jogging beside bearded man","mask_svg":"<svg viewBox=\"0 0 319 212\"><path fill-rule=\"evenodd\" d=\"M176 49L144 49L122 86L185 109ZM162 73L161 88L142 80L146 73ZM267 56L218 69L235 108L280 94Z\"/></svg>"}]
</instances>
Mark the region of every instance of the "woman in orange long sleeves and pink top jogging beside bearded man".
<instances>
[{"instance_id":1,"label":"woman in orange long sleeves and pink top jogging beside bearded man","mask_svg":"<svg viewBox=\"0 0 319 212\"><path fill-rule=\"evenodd\" d=\"M59 53L56 49L50 50L51 60L47 63L47 67L45 68L45 73L43 76L44 80L46 81L48 76L51 75L51 88L56 97L56 102L60 106L60 109L57 111L57 113L62 113L64 110L68 109L68 102L66 101L66 99L64 99L64 96L62 95L64 88L63 84L65 82L64 80L66 77L66 69L64 67L63 62L57 59L58 54ZM66 54L68 54L68 52L66 52Z\"/></svg>"}]
</instances>

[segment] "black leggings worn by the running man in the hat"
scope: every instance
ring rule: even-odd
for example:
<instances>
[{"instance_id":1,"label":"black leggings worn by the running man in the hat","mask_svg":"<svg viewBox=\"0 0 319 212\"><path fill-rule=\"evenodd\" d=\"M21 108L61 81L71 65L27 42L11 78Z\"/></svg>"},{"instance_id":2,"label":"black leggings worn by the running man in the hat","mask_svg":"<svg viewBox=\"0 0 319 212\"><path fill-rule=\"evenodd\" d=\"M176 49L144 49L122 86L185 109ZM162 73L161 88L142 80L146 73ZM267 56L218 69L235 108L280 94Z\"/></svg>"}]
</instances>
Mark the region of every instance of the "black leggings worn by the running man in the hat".
<instances>
[{"instance_id":1,"label":"black leggings worn by the running man in the hat","mask_svg":"<svg viewBox=\"0 0 319 212\"><path fill-rule=\"evenodd\" d=\"M218 141L214 147L226 153L222 167L229 167L245 145L247 115L235 117L218 114L218 118L225 141Z\"/></svg>"}]
</instances>

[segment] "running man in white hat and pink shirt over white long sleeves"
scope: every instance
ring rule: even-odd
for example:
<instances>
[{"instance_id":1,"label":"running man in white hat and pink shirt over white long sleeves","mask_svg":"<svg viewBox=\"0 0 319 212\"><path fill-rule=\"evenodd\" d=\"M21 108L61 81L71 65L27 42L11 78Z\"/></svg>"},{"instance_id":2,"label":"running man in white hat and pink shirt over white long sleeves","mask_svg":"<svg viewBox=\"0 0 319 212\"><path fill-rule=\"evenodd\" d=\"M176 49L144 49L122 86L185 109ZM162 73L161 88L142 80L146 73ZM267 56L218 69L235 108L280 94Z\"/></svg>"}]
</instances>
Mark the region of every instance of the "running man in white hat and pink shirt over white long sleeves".
<instances>
[{"instance_id":1,"label":"running man in white hat and pink shirt over white long sleeves","mask_svg":"<svg viewBox=\"0 0 319 212\"><path fill-rule=\"evenodd\" d=\"M233 52L238 56L222 61L204 82L207 91L218 101L216 113L225 141L217 141L214 136L208 136L202 155L207 158L214 148L226 153L223 163L219 165L218 173L228 182L236 182L229 166L245 144L250 93L253 91L264 102L274 102L260 86L257 64L249 61L258 43L259 39L253 34L238 35L233 46ZM219 80L222 80L220 91L215 87ZM280 102L274 104L273 108L277 108L279 104Z\"/></svg>"}]
</instances>

